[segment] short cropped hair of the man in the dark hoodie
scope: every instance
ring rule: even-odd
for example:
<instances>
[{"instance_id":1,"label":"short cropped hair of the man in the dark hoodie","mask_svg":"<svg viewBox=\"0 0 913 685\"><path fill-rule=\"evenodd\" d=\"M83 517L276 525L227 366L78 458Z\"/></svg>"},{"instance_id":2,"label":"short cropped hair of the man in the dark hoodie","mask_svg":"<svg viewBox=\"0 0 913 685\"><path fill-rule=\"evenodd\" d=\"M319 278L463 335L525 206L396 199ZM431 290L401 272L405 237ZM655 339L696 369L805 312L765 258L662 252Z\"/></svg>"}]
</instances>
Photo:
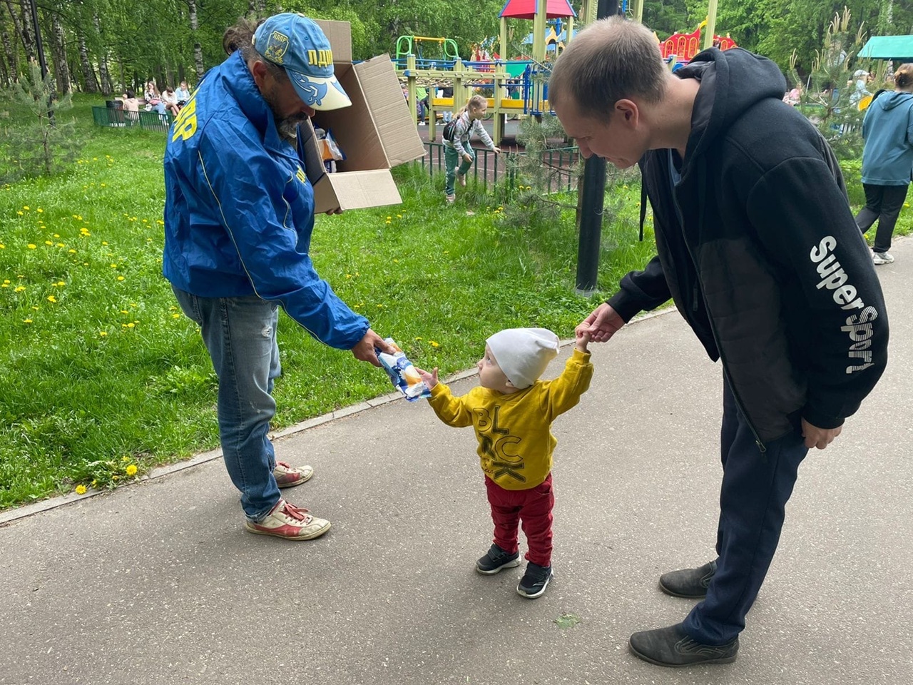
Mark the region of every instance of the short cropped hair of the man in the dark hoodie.
<instances>
[{"instance_id":1,"label":"short cropped hair of the man in the dark hoodie","mask_svg":"<svg viewBox=\"0 0 913 685\"><path fill-rule=\"evenodd\" d=\"M666 94L669 70L656 35L622 16L584 28L555 62L549 101L572 101L582 116L604 116L615 102L637 96L656 103Z\"/></svg>"}]
</instances>

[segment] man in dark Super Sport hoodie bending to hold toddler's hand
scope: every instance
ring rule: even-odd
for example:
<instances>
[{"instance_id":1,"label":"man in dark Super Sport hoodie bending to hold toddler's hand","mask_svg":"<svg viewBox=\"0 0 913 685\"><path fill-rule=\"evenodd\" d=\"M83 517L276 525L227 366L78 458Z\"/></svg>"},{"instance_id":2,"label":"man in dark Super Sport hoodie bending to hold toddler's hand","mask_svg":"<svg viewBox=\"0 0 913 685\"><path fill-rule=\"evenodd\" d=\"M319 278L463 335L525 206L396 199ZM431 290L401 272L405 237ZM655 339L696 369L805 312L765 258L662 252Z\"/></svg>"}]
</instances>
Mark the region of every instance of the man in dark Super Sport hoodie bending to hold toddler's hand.
<instances>
[{"instance_id":1,"label":"man in dark Super Sport hoodie bending to hold toddler's hand","mask_svg":"<svg viewBox=\"0 0 913 685\"><path fill-rule=\"evenodd\" d=\"M736 658L800 462L840 435L887 364L885 301L839 166L785 90L775 64L741 49L710 48L673 75L653 33L620 17L583 30L551 73L583 156L640 163L656 227L656 258L578 328L605 342L672 298L723 367L717 556L660 578L703 601L629 642L660 666Z\"/></svg>"}]
</instances>

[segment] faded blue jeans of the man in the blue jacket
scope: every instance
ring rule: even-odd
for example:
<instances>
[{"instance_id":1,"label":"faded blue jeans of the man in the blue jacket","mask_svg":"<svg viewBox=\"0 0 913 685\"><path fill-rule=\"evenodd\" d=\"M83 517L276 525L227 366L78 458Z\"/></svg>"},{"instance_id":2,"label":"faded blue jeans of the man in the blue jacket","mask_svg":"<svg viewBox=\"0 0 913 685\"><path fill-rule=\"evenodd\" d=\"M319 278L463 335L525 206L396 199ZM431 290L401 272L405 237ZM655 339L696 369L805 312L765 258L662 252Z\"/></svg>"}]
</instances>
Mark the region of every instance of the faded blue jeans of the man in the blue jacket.
<instances>
[{"instance_id":1,"label":"faded blue jeans of the man in the blue jacket","mask_svg":"<svg viewBox=\"0 0 913 685\"><path fill-rule=\"evenodd\" d=\"M278 304L256 295L203 298L173 288L181 309L200 325L219 379L218 420L228 475L241 491L247 519L260 522L279 501L269 421L273 381L281 373Z\"/></svg>"}]
</instances>

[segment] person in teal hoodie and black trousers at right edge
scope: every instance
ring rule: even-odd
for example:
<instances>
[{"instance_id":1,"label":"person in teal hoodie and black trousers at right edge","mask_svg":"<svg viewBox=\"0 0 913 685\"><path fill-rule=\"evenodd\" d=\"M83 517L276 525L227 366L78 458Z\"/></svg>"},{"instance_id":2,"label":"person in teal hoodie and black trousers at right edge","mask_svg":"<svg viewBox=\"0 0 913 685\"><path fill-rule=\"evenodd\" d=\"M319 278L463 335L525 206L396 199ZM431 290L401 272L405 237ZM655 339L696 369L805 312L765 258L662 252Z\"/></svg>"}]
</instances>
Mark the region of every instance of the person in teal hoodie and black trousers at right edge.
<instances>
[{"instance_id":1,"label":"person in teal hoodie and black trousers at right edge","mask_svg":"<svg viewBox=\"0 0 913 685\"><path fill-rule=\"evenodd\" d=\"M897 69L894 85L897 90L883 92L872 101L862 122L866 206L856 215L856 224L866 233L878 222L872 248L875 264L894 261L887 250L913 177L913 64Z\"/></svg>"}]
</instances>

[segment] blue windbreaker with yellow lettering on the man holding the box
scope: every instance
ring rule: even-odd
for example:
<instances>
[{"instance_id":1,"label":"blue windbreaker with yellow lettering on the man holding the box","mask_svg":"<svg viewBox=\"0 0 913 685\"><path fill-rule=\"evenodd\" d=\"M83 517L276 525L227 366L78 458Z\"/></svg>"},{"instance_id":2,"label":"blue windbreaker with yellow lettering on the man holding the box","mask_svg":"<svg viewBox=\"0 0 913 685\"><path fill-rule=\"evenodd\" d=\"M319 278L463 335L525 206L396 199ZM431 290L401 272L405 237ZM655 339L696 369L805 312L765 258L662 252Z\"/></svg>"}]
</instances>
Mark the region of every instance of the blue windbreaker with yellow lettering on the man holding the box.
<instances>
[{"instance_id":1,"label":"blue windbreaker with yellow lettering on the man holding the box","mask_svg":"<svg viewBox=\"0 0 913 685\"><path fill-rule=\"evenodd\" d=\"M313 189L239 52L211 69L174 122L164 157L163 273L199 297L257 295L332 347L368 321L308 254Z\"/></svg>"}]
</instances>

